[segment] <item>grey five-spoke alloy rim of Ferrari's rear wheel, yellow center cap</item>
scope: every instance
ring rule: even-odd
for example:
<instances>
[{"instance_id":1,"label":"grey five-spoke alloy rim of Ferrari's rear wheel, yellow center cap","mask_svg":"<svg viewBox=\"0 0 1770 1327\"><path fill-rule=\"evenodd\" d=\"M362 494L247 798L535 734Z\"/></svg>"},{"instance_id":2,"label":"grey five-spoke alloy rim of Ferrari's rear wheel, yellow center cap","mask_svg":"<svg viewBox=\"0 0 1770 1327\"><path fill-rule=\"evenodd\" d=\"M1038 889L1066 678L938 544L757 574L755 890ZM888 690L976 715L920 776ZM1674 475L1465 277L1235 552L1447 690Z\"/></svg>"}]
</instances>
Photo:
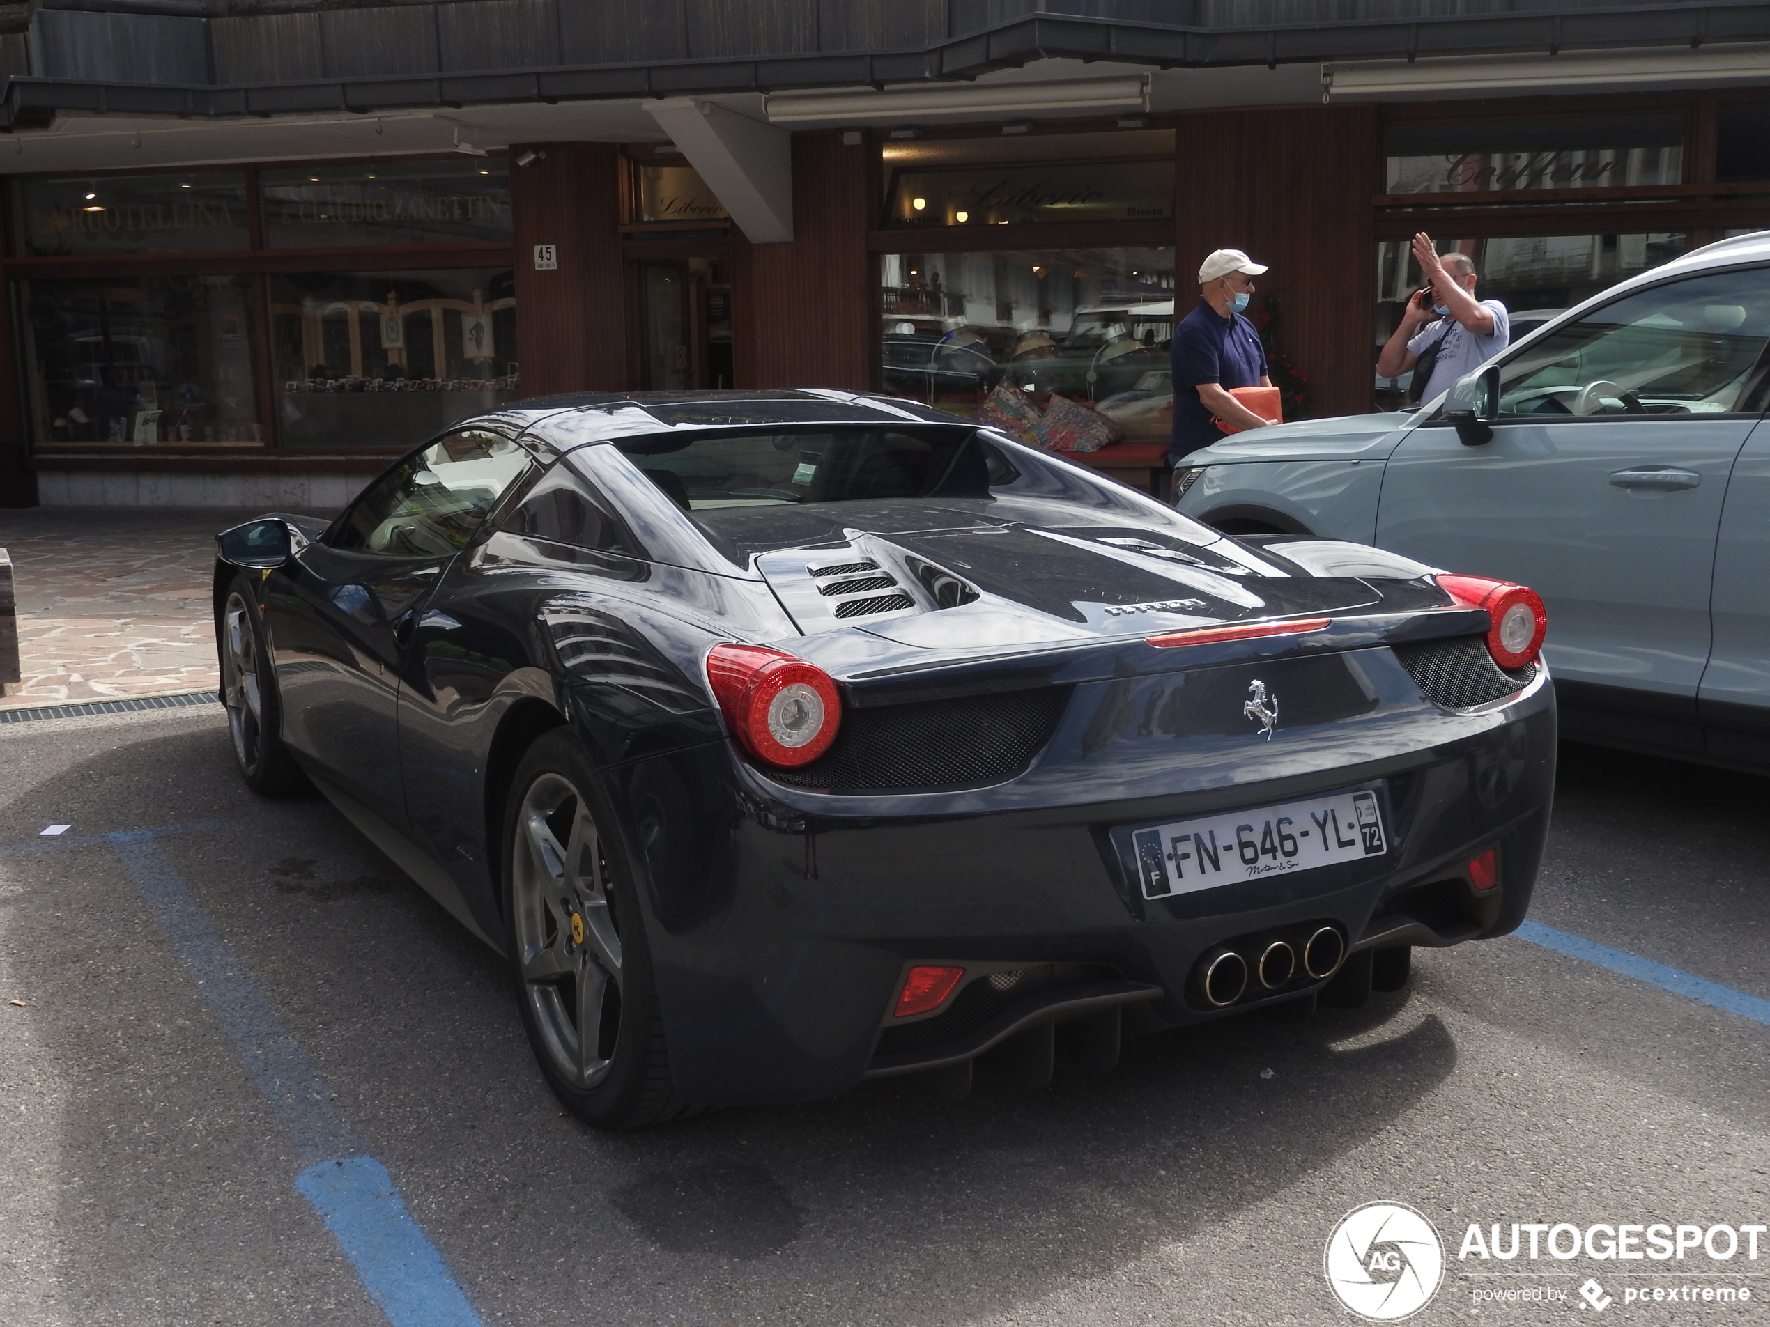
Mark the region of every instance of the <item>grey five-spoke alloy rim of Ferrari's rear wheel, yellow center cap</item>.
<instances>
[{"instance_id":1,"label":"grey five-spoke alloy rim of Ferrari's rear wheel, yellow center cap","mask_svg":"<svg viewBox=\"0 0 1770 1327\"><path fill-rule=\"evenodd\" d=\"M593 1088L614 1058L623 980L602 835L572 782L543 773L522 796L513 839L522 998L554 1072Z\"/></svg>"}]
</instances>

